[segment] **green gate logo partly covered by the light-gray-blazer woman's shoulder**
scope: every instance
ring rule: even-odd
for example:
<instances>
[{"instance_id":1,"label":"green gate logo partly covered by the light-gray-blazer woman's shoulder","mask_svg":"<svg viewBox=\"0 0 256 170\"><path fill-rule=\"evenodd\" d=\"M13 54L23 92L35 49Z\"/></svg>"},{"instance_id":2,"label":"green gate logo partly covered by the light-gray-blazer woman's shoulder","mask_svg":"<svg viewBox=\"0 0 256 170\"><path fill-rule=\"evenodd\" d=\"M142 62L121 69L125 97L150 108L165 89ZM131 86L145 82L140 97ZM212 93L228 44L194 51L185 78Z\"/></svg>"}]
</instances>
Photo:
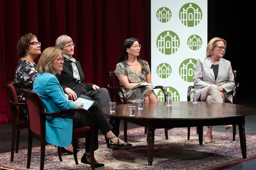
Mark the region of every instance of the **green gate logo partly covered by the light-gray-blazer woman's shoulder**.
<instances>
[{"instance_id":1,"label":"green gate logo partly covered by the light-gray-blazer woman's shoulder","mask_svg":"<svg viewBox=\"0 0 256 170\"><path fill-rule=\"evenodd\" d=\"M193 82L193 76L194 76L194 67L196 64L196 59L185 59L181 64L179 68L180 77L185 80L186 82Z\"/></svg>"}]
</instances>

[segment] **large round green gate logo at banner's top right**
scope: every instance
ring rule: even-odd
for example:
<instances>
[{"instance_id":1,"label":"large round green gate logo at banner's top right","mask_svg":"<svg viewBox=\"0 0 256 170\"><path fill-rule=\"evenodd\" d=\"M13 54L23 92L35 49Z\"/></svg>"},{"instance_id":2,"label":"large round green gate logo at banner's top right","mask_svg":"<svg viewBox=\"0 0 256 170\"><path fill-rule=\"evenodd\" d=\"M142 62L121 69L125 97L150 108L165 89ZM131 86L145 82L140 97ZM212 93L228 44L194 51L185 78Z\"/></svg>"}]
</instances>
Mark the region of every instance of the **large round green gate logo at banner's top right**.
<instances>
[{"instance_id":1,"label":"large round green gate logo at banner's top right","mask_svg":"<svg viewBox=\"0 0 256 170\"><path fill-rule=\"evenodd\" d=\"M185 26L197 26L202 20L202 10L195 3L186 3L180 8L179 17Z\"/></svg>"}]
</instances>

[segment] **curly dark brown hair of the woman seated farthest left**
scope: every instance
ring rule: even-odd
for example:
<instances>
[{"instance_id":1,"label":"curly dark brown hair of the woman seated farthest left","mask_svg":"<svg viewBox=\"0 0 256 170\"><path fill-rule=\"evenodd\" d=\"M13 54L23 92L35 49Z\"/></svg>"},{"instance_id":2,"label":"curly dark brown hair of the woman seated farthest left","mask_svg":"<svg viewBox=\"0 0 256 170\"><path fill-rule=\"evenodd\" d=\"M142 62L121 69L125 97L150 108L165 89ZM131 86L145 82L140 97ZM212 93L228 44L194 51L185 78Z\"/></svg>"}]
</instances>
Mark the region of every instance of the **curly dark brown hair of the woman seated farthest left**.
<instances>
[{"instance_id":1,"label":"curly dark brown hair of the woman seated farthest left","mask_svg":"<svg viewBox=\"0 0 256 170\"><path fill-rule=\"evenodd\" d=\"M17 55L19 58L26 56L26 50L29 49L29 43L33 38L37 39L37 37L32 33L25 34L20 37L20 40L17 44Z\"/></svg>"}]
</instances>

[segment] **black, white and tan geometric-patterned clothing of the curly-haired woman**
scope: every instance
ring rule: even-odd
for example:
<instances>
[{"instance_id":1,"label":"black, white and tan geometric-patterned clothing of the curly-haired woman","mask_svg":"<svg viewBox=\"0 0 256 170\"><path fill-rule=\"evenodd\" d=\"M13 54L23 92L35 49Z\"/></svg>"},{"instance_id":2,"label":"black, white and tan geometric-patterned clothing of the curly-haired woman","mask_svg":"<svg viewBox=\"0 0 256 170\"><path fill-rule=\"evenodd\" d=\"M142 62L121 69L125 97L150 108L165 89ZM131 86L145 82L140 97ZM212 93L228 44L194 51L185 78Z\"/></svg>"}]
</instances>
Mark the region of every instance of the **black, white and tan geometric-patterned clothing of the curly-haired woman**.
<instances>
[{"instance_id":1,"label":"black, white and tan geometric-patterned clothing of the curly-haired woman","mask_svg":"<svg viewBox=\"0 0 256 170\"><path fill-rule=\"evenodd\" d=\"M13 86L18 96L19 103L25 103L26 100L23 94L19 94L19 89L33 89L35 78L38 76L37 65L30 64L27 60L20 59L15 70L15 78ZM20 119L28 119L26 107L20 107Z\"/></svg>"}]
</instances>

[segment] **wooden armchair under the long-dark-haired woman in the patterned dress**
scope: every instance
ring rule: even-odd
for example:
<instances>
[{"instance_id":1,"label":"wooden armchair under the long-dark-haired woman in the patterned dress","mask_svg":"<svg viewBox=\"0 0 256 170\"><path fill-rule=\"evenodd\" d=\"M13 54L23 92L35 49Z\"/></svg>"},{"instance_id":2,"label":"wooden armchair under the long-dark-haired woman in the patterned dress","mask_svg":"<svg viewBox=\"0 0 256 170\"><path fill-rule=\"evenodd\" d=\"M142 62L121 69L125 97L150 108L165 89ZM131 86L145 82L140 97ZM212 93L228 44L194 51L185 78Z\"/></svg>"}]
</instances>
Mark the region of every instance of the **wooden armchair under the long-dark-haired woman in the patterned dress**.
<instances>
[{"instance_id":1,"label":"wooden armchair under the long-dark-haired woman in the patterned dress","mask_svg":"<svg viewBox=\"0 0 256 170\"><path fill-rule=\"evenodd\" d=\"M109 75L110 75L110 84L108 84L108 89L111 92L110 93L111 101L116 102L116 105L128 104L125 88L121 87L119 83L119 79L117 78L116 74L114 74L113 71L110 71ZM159 86L155 86L154 89L157 89L157 88L160 88L163 91L164 101L166 102L166 96L168 96L166 88L159 85ZM124 103L121 102L120 97L118 95L120 91L124 96ZM165 129L165 132L167 132L168 130L169 129ZM145 127L145 134L147 134L147 127ZM168 139L168 133L165 133L165 136L166 136L166 139ZM124 119L124 139L125 139L125 142L127 142L127 120L125 119Z\"/></svg>"}]
</instances>

